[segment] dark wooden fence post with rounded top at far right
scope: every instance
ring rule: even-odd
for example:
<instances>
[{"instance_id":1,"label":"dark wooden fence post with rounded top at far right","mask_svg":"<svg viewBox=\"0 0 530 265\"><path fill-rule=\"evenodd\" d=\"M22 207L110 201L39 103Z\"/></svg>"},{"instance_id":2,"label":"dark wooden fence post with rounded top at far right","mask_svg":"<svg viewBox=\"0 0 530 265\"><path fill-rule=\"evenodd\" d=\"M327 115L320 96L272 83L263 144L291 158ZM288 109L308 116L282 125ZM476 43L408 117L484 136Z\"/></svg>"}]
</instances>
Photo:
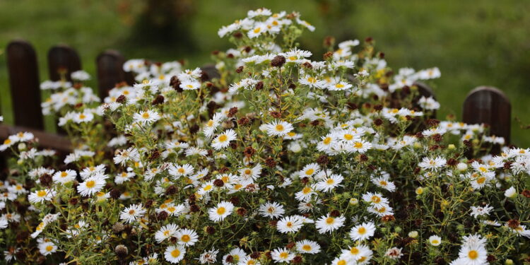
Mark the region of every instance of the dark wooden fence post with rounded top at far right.
<instances>
[{"instance_id":1,"label":"dark wooden fence post with rounded top at far right","mask_svg":"<svg viewBox=\"0 0 530 265\"><path fill-rule=\"evenodd\" d=\"M501 136L510 143L512 105L501 90L480 86L473 89L464 101L462 121L467 124L488 124L490 134Z\"/></svg>"}]
</instances>

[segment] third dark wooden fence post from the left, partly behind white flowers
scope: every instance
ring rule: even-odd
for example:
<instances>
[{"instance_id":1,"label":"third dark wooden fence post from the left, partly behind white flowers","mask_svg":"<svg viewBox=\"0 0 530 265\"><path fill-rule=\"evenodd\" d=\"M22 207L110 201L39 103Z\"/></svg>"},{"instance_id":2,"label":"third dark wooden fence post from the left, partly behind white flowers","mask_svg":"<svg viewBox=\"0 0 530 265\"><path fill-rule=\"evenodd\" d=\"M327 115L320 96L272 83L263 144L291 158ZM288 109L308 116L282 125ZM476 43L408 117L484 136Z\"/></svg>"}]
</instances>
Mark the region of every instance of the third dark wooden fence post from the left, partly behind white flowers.
<instances>
[{"instance_id":1,"label":"third dark wooden fence post from the left, partly behind white flowers","mask_svg":"<svg viewBox=\"0 0 530 265\"><path fill-rule=\"evenodd\" d=\"M96 65L98 67L98 87L100 98L105 98L109 90L117 83L126 82L129 85L134 83L131 73L123 70L125 58L118 51L107 50L98 55Z\"/></svg>"}]
</instances>

